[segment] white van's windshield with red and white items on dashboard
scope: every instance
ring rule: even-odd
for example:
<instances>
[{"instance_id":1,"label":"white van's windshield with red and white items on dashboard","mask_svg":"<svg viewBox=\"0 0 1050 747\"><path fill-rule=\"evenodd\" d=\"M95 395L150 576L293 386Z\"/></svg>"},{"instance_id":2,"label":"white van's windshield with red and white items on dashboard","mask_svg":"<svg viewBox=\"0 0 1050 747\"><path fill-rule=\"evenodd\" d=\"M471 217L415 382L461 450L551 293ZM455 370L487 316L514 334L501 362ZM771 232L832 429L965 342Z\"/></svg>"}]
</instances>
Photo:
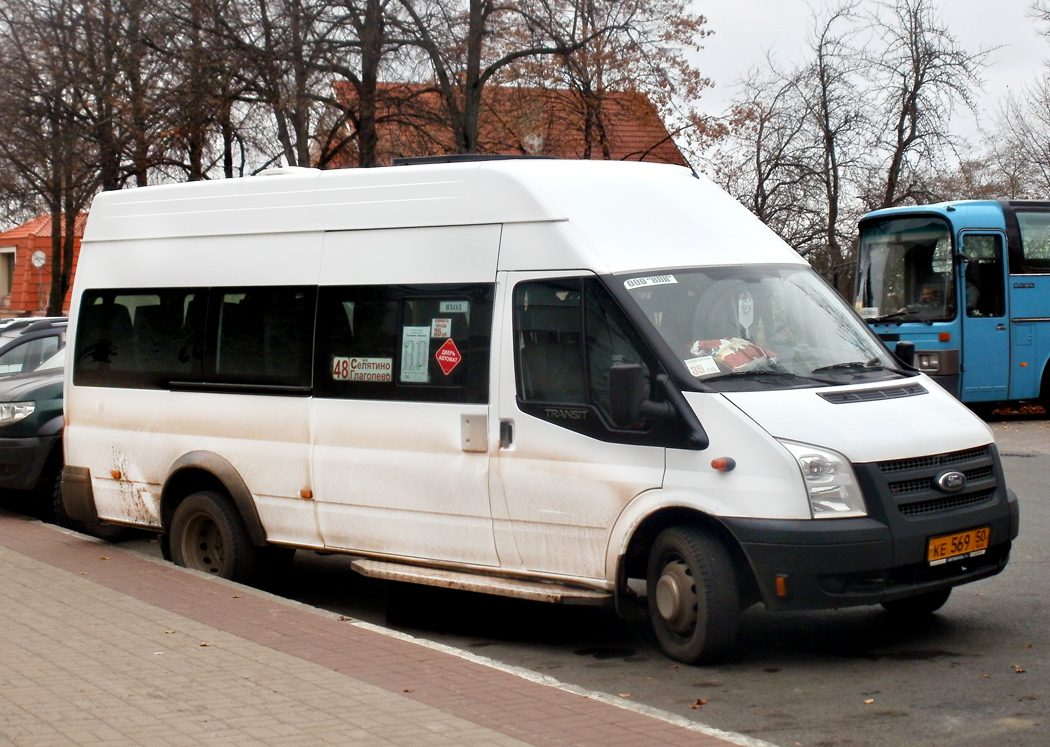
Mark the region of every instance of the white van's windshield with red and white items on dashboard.
<instances>
[{"instance_id":1,"label":"white van's windshield with red and white items on dashboard","mask_svg":"<svg viewBox=\"0 0 1050 747\"><path fill-rule=\"evenodd\" d=\"M807 266L689 268L621 279L706 388L812 387L900 375L879 339Z\"/></svg>"}]
</instances>

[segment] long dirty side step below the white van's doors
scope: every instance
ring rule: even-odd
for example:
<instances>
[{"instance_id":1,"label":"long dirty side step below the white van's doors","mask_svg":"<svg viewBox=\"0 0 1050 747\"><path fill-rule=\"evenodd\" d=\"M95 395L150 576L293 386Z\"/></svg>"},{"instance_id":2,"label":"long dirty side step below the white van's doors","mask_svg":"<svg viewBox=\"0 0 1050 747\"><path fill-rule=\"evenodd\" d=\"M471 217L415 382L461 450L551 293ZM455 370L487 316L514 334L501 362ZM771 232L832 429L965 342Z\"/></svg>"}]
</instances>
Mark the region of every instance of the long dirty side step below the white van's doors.
<instances>
[{"instance_id":1,"label":"long dirty side step below the white van's doors","mask_svg":"<svg viewBox=\"0 0 1050 747\"><path fill-rule=\"evenodd\" d=\"M506 576L469 574L461 570L391 563L382 560L371 560L369 558L355 558L351 561L350 566L361 574L361 576L369 576L375 579L405 581L426 586L441 586L443 588L458 588L464 592L495 594L500 597L514 597L534 602L606 605L612 604L613 601L611 592L548 581L531 581L528 579L508 578Z\"/></svg>"}]
</instances>

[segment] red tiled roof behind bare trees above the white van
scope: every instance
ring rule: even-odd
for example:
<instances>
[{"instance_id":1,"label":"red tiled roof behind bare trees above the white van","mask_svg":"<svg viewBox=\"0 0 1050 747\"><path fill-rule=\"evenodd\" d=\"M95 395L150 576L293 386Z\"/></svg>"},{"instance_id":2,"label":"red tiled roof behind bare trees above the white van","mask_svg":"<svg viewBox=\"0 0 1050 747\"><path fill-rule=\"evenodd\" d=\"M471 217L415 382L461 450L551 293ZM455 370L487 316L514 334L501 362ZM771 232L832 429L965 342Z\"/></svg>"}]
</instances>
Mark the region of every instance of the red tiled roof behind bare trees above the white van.
<instances>
[{"instance_id":1,"label":"red tiled roof behind bare trees above the white van","mask_svg":"<svg viewBox=\"0 0 1050 747\"><path fill-rule=\"evenodd\" d=\"M343 101L355 98L348 83L336 84L336 91ZM444 103L436 91L423 85L384 84L381 95L377 116L380 163L457 151L452 132L439 117ZM575 92L489 85L482 97L479 152L687 165L656 107L638 91L602 94L605 144L593 129L589 152L584 107ZM338 165L354 166L356 159L350 155Z\"/></svg>"}]
</instances>

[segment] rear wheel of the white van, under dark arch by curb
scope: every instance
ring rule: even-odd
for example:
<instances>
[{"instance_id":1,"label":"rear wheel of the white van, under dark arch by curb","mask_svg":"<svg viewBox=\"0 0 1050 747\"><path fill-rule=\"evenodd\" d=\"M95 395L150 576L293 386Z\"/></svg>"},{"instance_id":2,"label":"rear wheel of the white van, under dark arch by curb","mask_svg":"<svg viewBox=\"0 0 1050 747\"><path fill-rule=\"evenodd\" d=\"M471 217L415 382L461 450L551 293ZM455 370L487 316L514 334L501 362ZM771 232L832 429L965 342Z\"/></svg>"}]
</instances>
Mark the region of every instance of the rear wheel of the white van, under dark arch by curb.
<instances>
[{"instance_id":1,"label":"rear wheel of the white van, under dark arch by curb","mask_svg":"<svg viewBox=\"0 0 1050 747\"><path fill-rule=\"evenodd\" d=\"M255 547L226 498L212 491L187 496L171 519L171 560L194 570L248 583L255 574Z\"/></svg>"}]
</instances>

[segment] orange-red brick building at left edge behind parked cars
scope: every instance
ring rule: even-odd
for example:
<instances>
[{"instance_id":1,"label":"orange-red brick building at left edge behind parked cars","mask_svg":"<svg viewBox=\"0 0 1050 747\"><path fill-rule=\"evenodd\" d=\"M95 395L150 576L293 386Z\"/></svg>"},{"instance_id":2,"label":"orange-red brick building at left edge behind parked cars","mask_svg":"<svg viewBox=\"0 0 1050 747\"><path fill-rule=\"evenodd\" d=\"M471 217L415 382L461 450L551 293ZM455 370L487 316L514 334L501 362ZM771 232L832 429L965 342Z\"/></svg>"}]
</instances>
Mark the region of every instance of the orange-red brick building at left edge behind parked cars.
<instances>
[{"instance_id":1,"label":"orange-red brick building at left edge behind parked cars","mask_svg":"<svg viewBox=\"0 0 1050 747\"><path fill-rule=\"evenodd\" d=\"M74 267L87 213L77 217ZM0 316L42 316L51 291L51 217L42 215L0 233ZM69 306L68 295L63 311Z\"/></svg>"}]
</instances>

